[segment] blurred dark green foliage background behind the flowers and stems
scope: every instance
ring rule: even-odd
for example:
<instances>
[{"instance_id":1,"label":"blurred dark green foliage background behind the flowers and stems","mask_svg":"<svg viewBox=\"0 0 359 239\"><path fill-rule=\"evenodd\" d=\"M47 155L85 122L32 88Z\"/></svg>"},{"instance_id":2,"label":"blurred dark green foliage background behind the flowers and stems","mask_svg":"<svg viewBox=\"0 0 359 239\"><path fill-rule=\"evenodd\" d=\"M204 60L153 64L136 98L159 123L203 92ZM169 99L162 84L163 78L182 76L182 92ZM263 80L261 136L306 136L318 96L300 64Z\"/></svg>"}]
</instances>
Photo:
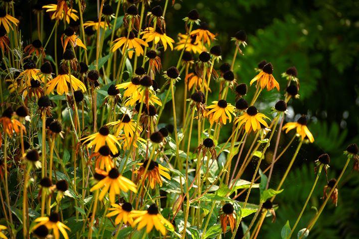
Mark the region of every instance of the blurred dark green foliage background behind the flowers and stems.
<instances>
[{"instance_id":1,"label":"blurred dark green foliage background behind the flowers and stems","mask_svg":"<svg viewBox=\"0 0 359 239\"><path fill-rule=\"evenodd\" d=\"M29 25L21 24L23 35L29 35L29 31L35 29L36 23L33 14L28 10L28 4L23 2L25 0L17 1L15 9L19 9L18 14L22 15L22 20L32 19ZM90 20L96 14L96 0L86 2L85 20ZM28 3L33 4L32 1ZM156 4L164 6L165 3L164 0L153 1L152 6ZM256 104L260 112L269 115L270 108L276 101L284 98L286 80L281 78L281 73L291 66L298 69L300 99L289 102L290 116L286 117L286 120L293 121L302 114L308 115L309 129L315 142L302 147L286 180L284 192L274 202L279 205L276 211L277 220L272 224L271 219L266 219L258 236L261 239L278 239L286 221L289 220L293 226L304 205L315 179L313 168L317 157L322 153L329 153L331 167L328 178L337 177L346 160L343 151L349 143L359 143L359 1L176 0L174 6L169 4L166 13L167 33L176 41L177 34L185 31L182 18L193 8L199 11L200 19L209 24L210 31L217 33L217 41L212 44L222 47L223 62L230 63L233 56L234 44L230 37L238 30L246 31L248 46L243 49L243 56L237 56L235 66L238 82L248 84L256 75L254 68L261 60L272 62L274 77L280 83L281 91L265 91L258 99L258 102L262 103ZM27 18L30 14L32 17ZM46 32L51 31L52 24L50 21L45 22ZM24 41L28 43L29 39ZM175 65L178 56L179 52L166 51L161 56L163 69ZM219 64L215 66L216 69ZM164 82L160 74L157 80L160 85ZM212 100L215 100L218 87L211 85L211 89L214 92ZM246 99L251 99L253 92L254 87L249 88ZM180 122L183 81L177 85L176 97ZM235 103L233 94L228 101ZM166 109L171 114L171 104L168 104ZM165 118L162 118L161 122L171 123L170 117ZM230 130L230 126L221 130L221 142L228 138ZM279 151L292 136L291 133L283 134ZM195 147L195 140L193 144ZM270 187L275 187L280 181L296 144L297 142L276 164ZM267 151L268 155L273 146ZM264 162L262 168L268 164ZM243 179L250 180L255 165L254 163L248 167ZM338 207L328 204L309 238L359 238L358 184L358 172L348 169L338 187ZM320 197L323 196L325 185L323 174L297 231L304 228L315 214L315 210L310 208L320 207ZM255 193L253 192L250 202L258 204L255 199L259 197L256 197ZM251 217L248 217L244 222L249 224L250 220ZM240 235L237 236L240 238Z\"/></svg>"}]
</instances>

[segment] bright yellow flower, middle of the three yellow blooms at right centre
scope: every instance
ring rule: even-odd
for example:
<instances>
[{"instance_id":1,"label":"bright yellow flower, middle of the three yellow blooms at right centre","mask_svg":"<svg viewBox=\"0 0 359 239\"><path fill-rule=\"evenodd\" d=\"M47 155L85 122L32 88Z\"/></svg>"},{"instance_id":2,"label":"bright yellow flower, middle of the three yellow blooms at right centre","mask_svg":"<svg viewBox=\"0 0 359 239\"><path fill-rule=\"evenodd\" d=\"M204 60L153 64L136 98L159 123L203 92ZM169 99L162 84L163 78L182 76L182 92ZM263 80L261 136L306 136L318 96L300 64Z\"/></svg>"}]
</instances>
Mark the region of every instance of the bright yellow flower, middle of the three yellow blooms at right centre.
<instances>
[{"instance_id":1,"label":"bright yellow flower, middle of the three yellow blooms at right centre","mask_svg":"<svg viewBox=\"0 0 359 239\"><path fill-rule=\"evenodd\" d=\"M234 123L237 124L238 128L245 124L245 131L248 133L252 129L253 131L260 129L260 123L262 123L265 127L268 127L268 124L264 119L269 118L262 113L258 113L257 108L254 106L250 106L245 112L243 112L243 115L234 120Z\"/></svg>"}]
</instances>

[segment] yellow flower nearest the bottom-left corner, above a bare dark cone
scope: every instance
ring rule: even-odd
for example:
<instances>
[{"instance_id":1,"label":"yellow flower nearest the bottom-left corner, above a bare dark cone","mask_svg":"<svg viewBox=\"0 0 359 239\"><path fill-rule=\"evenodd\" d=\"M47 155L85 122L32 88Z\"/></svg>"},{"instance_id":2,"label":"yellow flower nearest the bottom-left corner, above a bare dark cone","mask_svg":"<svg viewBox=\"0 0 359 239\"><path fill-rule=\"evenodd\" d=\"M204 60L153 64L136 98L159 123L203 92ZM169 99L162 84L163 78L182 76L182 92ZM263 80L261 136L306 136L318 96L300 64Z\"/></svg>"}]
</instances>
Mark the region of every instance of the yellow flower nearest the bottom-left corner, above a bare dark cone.
<instances>
[{"instance_id":1,"label":"yellow flower nearest the bottom-left corner, above a bare dark cone","mask_svg":"<svg viewBox=\"0 0 359 239\"><path fill-rule=\"evenodd\" d=\"M58 213L53 212L48 217L36 218L34 222L38 224L32 228L32 231L44 225L48 230L52 229L55 239L60 238L59 231L65 239L69 239L66 230L71 231L71 229L61 222L60 215Z\"/></svg>"}]
</instances>

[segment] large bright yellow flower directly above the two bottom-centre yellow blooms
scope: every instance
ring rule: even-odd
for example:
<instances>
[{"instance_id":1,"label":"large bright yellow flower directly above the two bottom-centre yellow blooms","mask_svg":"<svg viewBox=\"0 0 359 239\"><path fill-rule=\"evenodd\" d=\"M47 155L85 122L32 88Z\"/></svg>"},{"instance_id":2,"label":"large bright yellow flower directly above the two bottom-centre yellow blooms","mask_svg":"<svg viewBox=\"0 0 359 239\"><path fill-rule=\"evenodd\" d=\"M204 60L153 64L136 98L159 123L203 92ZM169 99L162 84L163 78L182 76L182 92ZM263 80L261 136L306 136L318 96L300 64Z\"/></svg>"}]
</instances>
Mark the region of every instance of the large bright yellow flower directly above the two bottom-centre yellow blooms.
<instances>
[{"instance_id":1,"label":"large bright yellow flower directly above the two bottom-centre yellow blooms","mask_svg":"<svg viewBox=\"0 0 359 239\"><path fill-rule=\"evenodd\" d=\"M112 168L108 172L101 170L96 170L96 172L106 175L104 179L102 179L90 189L90 191L93 192L102 188L99 196L100 201L104 199L107 192L109 192L109 198L112 204L115 203L115 197L116 195L120 194L121 191L125 193L129 190L134 193L137 192L136 184L134 184L130 179L120 175L117 168Z\"/></svg>"}]
</instances>

